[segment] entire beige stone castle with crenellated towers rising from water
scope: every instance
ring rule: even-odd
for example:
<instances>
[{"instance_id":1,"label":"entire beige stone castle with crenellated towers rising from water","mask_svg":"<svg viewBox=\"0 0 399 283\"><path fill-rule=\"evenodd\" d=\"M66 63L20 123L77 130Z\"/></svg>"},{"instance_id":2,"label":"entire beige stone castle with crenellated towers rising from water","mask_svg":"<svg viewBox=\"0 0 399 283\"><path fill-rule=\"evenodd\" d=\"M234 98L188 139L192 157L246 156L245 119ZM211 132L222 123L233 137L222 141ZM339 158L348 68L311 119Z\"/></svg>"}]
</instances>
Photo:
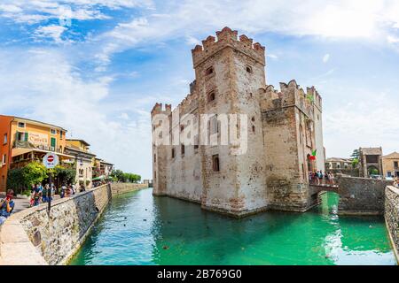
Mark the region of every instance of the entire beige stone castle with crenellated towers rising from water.
<instances>
[{"instance_id":1,"label":"entire beige stone castle with crenellated towers rising from water","mask_svg":"<svg viewBox=\"0 0 399 283\"><path fill-rule=\"evenodd\" d=\"M216 35L192 50L190 94L173 111L170 104L153 107L153 195L197 202L236 217L268 209L309 210L317 204L309 171L325 170L321 96L314 87L304 91L295 80L280 83L280 90L268 86L260 43L244 34L238 38L228 27ZM187 114L194 119L186 119ZM210 118L202 119L204 114ZM228 116L230 124L247 129L239 132L246 138L239 154L232 153L236 143L221 142L223 114L246 117L236 121ZM199 125L209 127L205 134ZM193 144L176 142L181 135ZM212 138L216 145L205 141Z\"/></svg>"}]
</instances>

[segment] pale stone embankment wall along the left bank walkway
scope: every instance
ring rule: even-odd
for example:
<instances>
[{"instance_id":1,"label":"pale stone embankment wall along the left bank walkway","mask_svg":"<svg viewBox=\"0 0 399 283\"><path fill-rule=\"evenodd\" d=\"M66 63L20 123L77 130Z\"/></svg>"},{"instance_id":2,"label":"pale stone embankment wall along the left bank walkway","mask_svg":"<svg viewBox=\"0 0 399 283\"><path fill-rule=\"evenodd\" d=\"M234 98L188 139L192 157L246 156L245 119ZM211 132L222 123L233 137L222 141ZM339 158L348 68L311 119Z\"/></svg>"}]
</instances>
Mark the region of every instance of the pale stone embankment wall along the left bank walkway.
<instances>
[{"instance_id":1,"label":"pale stone embankment wall along the left bank walkway","mask_svg":"<svg viewBox=\"0 0 399 283\"><path fill-rule=\"evenodd\" d=\"M66 264L113 195L148 187L113 183L22 210L0 226L0 265Z\"/></svg>"}]
</instances>

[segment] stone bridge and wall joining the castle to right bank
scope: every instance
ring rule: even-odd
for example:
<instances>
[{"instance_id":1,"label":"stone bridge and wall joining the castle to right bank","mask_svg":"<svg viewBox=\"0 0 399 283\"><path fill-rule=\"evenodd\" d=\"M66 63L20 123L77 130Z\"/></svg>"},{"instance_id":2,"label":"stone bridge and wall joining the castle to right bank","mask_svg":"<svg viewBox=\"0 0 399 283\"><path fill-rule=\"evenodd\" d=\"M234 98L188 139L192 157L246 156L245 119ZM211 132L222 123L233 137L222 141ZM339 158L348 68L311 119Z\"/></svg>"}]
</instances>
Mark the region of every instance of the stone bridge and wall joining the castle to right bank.
<instances>
[{"instance_id":1,"label":"stone bridge and wall joining the castle to right bank","mask_svg":"<svg viewBox=\"0 0 399 283\"><path fill-rule=\"evenodd\" d=\"M311 194L327 191L340 195L340 215L382 215L384 214L385 188L392 181L338 176L337 185L310 185Z\"/></svg>"}]
</instances>

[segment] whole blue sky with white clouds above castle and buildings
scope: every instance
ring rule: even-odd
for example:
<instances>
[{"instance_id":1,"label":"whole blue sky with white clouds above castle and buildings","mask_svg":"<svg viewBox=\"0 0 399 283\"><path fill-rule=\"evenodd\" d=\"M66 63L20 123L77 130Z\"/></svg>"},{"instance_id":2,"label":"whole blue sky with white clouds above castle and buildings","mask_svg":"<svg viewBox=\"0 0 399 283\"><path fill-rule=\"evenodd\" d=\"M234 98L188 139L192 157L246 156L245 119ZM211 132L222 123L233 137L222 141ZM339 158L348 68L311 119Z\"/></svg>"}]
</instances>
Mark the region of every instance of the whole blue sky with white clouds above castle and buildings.
<instances>
[{"instance_id":1,"label":"whole blue sky with white clouds above castle and buildings","mask_svg":"<svg viewBox=\"0 0 399 283\"><path fill-rule=\"evenodd\" d=\"M318 89L327 157L399 150L394 0L2 0L0 113L64 126L151 178L149 112L186 96L191 49L225 26L266 47L268 84Z\"/></svg>"}]
</instances>

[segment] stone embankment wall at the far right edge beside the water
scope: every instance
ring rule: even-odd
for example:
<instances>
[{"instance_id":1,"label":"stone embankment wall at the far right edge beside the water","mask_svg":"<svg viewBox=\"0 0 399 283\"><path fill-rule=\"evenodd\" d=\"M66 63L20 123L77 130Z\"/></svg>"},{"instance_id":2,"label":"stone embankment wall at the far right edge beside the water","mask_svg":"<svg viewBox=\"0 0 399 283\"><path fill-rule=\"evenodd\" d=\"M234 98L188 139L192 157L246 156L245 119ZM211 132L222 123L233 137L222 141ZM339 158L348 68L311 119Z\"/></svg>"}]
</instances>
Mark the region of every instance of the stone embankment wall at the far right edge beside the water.
<instances>
[{"instance_id":1,"label":"stone embankment wall at the far right edge beside the water","mask_svg":"<svg viewBox=\"0 0 399 283\"><path fill-rule=\"evenodd\" d=\"M385 222L399 264L399 188L397 187L388 186L385 190Z\"/></svg>"}]
</instances>

